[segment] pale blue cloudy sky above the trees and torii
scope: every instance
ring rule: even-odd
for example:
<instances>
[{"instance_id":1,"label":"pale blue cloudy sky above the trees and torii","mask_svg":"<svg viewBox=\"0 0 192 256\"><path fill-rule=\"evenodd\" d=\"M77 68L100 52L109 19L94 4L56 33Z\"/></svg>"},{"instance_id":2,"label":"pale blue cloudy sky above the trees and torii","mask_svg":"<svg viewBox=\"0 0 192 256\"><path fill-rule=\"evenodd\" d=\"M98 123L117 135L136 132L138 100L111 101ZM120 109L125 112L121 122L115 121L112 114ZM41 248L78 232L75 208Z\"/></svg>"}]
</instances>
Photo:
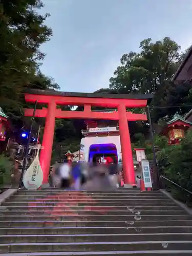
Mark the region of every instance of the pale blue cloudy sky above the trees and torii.
<instances>
[{"instance_id":1,"label":"pale blue cloudy sky above the trees and torii","mask_svg":"<svg viewBox=\"0 0 192 256\"><path fill-rule=\"evenodd\" d=\"M94 92L109 88L109 79L140 41L168 36L184 51L192 45L192 0L43 0L50 13L51 40L42 73L60 91Z\"/></svg>"}]
</instances>

